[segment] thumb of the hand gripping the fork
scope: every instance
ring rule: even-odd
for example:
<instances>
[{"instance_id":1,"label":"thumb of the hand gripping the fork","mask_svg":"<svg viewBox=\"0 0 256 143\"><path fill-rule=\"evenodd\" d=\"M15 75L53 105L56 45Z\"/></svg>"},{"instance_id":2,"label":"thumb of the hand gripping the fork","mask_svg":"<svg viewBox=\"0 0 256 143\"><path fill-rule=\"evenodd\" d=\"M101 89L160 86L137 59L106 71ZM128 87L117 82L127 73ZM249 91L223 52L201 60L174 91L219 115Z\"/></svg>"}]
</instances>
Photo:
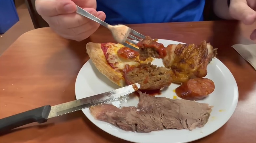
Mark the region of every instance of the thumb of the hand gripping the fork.
<instances>
[{"instance_id":1,"label":"thumb of the hand gripping the fork","mask_svg":"<svg viewBox=\"0 0 256 143\"><path fill-rule=\"evenodd\" d=\"M35 8L41 16L56 16L76 11L75 3L71 0L36 0Z\"/></svg>"}]
</instances>

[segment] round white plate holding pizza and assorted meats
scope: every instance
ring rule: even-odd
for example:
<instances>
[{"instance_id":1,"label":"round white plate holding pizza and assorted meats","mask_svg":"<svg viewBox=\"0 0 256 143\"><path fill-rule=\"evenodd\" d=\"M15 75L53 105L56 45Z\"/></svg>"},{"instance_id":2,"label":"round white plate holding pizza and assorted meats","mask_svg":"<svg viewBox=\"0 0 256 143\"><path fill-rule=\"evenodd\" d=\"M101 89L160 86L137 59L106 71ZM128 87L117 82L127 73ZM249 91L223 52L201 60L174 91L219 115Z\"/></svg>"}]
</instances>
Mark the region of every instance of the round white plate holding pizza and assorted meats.
<instances>
[{"instance_id":1,"label":"round white plate holding pizza and assorted meats","mask_svg":"<svg viewBox=\"0 0 256 143\"><path fill-rule=\"evenodd\" d=\"M181 42L172 40L158 40L163 43L164 46L168 44L178 44ZM155 59L152 64L163 66L161 59ZM238 102L238 88L236 81L232 73L228 68L217 58L212 59L211 63L207 67L207 76L214 81L215 90L206 99L200 100L201 103L209 103L213 105L213 111L209 121L205 124L203 128L196 128L192 131L185 129L182 130L163 130L154 131L151 133L134 133L123 131L107 122L96 120L90 114L88 108L83 109L85 116L90 119L97 127L103 131L119 137L121 139L137 142L137 143L173 143L173 142L190 142L218 130L222 127L227 120L232 116L235 111ZM173 98L175 95L174 89L178 87L177 84L171 84L170 87L162 91L160 97ZM94 66L91 60L88 60L84 66L79 71L76 82L75 82L75 95L76 99L85 98L95 94L100 94L113 89L120 88L110 80L108 80L104 75L102 75ZM131 106L137 105L138 98L133 98L129 100L128 103L113 103L118 106Z\"/></svg>"}]
</instances>

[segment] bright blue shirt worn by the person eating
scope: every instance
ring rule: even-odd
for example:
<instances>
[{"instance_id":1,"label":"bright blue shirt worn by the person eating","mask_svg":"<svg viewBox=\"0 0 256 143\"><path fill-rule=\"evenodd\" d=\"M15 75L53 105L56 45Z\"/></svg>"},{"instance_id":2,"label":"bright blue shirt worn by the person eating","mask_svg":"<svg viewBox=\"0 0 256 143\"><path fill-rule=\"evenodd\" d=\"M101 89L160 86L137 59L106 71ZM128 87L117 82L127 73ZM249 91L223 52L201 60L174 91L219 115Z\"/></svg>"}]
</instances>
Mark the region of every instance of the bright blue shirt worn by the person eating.
<instances>
[{"instance_id":1,"label":"bright blue shirt worn by the person eating","mask_svg":"<svg viewBox=\"0 0 256 143\"><path fill-rule=\"evenodd\" d=\"M203 21L205 0L96 0L109 24Z\"/></svg>"}]
</instances>

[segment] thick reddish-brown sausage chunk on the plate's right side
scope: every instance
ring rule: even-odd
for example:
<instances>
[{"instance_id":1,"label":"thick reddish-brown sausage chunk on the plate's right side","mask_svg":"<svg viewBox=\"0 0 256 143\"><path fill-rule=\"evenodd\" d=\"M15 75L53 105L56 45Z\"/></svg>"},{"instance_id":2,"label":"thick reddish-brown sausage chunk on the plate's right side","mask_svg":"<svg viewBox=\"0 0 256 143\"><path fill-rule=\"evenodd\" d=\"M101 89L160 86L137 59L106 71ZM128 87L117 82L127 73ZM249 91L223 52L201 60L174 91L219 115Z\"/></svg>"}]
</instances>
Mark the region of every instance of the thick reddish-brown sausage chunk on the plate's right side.
<instances>
[{"instance_id":1,"label":"thick reddish-brown sausage chunk on the plate's right side","mask_svg":"<svg viewBox=\"0 0 256 143\"><path fill-rule=\"evenodd\" d=\"M190 79L175 89L178 97L185 100L201 100L215 89L214 82L208 78Z\"/></svg>"}]
</instances>

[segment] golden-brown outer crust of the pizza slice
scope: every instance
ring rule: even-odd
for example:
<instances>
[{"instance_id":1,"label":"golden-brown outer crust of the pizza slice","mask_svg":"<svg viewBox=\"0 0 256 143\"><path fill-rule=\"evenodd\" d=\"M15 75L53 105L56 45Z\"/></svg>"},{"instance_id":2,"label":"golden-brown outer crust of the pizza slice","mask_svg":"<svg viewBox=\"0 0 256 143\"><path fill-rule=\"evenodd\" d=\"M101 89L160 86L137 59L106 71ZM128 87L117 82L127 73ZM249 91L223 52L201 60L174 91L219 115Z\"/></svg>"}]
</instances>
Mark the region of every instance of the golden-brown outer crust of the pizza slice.
<instances>
[{"instance_id":1,"label":"golden-brown outer crust of the pizza slice","mask_svg":"<svg viewBox=\"0 0 256 143\"><path fill-rule=\"evenodd\" d=\"M120 87L126 86L125 80L121 72L115 71L106 61L106 57L101 49L101 44L89 42L86 44L86 52L92 59L95 67L100 73L105 75L113 83Z\"/></svg>"}]
</instances>

